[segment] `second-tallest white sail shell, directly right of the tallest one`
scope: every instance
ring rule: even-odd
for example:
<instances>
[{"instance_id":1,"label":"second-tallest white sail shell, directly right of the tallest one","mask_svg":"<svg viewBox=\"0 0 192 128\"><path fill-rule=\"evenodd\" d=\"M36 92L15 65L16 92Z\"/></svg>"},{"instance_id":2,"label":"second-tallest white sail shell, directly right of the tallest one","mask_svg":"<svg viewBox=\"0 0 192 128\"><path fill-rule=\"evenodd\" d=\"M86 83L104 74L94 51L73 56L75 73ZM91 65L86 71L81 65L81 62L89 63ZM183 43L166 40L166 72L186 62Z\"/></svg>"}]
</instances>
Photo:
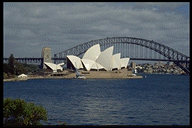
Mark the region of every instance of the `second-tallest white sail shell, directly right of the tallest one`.
<instances>
[{"instance_id":1,"label":"second-tallest white sail shell, directly right of the tallest one","mask_svg":"<svg viewBox=\"0 0 192 128\"><path fill-rule=\"evenodd\" d=\"M101 66L104 67L105 70L110 71L111 70L111 58L113 54L113 48L114 46L111 46L107 49L105 49L99 57L96 59L96 62L99 63Z\"/></svg>"}]
</instances>

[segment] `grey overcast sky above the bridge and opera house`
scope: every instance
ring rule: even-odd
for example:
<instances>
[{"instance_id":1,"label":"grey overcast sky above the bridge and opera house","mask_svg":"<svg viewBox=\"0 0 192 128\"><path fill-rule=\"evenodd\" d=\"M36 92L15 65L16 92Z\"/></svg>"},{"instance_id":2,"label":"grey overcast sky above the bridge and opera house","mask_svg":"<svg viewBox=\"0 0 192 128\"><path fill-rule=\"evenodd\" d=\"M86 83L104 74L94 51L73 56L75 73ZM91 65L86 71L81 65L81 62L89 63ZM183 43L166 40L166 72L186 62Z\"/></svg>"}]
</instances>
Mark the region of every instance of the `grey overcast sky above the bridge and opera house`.
<instances>
[{"instance_id":1,"label":"grey overcast sky above the bridge and opera house","mask_svg":"<svg viewBox=\"0 0 192 128\"><path fill-rule=\"evenodd\" d=\"M106 37L138 37L189 55L189 3L4 3L4 57L41 57Z\"/></svg>"}]
</instances>

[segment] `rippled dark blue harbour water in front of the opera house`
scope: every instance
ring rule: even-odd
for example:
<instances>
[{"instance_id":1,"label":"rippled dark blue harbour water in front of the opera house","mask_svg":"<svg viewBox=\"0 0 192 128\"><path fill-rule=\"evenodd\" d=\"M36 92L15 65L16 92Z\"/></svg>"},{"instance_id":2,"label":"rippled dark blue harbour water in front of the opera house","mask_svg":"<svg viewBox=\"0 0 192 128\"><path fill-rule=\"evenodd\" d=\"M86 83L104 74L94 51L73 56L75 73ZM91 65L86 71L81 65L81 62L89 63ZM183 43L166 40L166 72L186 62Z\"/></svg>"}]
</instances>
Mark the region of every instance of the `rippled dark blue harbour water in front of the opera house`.
<instances>
[{"instance_id":1,"label":"rippled dark blue harbour water in front of the opera house","mask_svg":"<svg viewBox=\"0 0 192 128\"><path fill-rule=\"evenodd\" d=\"M4 82L3 96L42 105L56 125L189 125L189 76Z\"/></svg>"}]
</instances>

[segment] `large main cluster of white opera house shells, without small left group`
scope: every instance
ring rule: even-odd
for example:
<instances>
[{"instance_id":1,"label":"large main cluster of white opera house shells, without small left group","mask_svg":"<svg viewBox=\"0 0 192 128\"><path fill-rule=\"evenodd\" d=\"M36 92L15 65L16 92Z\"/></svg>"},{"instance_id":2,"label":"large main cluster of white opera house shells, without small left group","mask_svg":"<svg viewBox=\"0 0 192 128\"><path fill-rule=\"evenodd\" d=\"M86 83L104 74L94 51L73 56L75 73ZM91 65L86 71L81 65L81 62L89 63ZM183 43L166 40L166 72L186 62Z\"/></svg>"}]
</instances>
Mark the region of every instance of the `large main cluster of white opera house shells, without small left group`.
<instances>
[{"instance_id":1,"label":"large main cluster of white opera house shells, without small left group","mask_svg":"<svg viewBox=\"0 0 192 128\"><path fill-rule=\"evenodd\" d=\"M111 46L101 52L100 45L96 44L85 52L82 59L74 55L67 55L67 68L86 71L112 71L127 68L129 58L120 58L121 53L113 55L113 48L114 46Z\"/></svg>"}]
</instances>

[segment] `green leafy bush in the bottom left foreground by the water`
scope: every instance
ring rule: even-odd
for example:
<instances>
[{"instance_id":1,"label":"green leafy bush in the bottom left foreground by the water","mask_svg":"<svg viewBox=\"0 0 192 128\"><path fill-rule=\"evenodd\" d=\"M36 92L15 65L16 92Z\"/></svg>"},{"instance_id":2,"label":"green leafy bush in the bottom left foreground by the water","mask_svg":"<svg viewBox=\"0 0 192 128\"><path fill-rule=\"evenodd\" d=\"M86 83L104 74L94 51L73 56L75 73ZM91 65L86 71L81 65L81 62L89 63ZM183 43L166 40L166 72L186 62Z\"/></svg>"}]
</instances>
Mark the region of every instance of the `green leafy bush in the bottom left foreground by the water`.
<instances>
[{"instance_id":1,"label":"green leafy bush in the bottom left foreground by the water","mask_svg":"<svg viewBox=\"0 0 192 128\"><path fill-rule=\"evenodd\" d=\"M3 100L3 125L41 125L47 121L47 111L42 106L21 99Z\"/></svg>"}]
</instances>

